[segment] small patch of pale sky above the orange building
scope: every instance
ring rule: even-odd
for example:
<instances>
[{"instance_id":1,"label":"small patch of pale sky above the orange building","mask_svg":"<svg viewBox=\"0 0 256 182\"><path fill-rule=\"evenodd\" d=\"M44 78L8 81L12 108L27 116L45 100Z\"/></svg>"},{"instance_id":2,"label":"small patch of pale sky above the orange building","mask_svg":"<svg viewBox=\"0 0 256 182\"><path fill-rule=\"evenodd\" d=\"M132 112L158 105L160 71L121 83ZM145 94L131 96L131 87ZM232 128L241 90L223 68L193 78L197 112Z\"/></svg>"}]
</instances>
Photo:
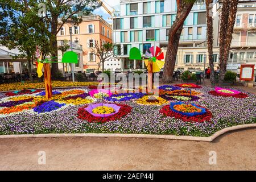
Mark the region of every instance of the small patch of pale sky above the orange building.
<instances>
[{"instance_id":1,"label":"small patch of pale sky above the orange building","mask_svg":"<svg viewBox=\"0 0 256 182\"><path fill-rule=\"evenodd\" d=\"M112 10L112 7L119 5L119 0L102 0L105 6L108 7L110 11ZM102 18L104 18L107 22L112 23L111 16L106 12L106 10L103 7L100 7L99 9L94 10L94 14L101 15Z\"/></svg>"}]
</instances>

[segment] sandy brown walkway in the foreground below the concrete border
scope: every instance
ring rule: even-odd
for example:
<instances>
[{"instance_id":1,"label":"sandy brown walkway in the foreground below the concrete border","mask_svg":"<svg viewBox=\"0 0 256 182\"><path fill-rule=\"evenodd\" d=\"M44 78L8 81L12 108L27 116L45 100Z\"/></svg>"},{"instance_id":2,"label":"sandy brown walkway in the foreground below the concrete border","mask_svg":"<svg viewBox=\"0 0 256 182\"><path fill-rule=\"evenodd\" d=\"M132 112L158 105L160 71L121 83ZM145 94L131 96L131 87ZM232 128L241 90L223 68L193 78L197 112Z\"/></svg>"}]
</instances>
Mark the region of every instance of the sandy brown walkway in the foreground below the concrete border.
<instances>
[{"instance_id":1,"label":"sandy brown walkway in the foreground below the concrete border","mask_svg":"<svg viewBox=\"0 0 256 182\"><path fill-rule=\"evenodd\" d=\"M256 129L212 143L137 138L0 139L0 170L256 170ZM46 152L46 165L38 152ZM209 152L217 164L209 164Z\"/></svg>"}]
</instances>

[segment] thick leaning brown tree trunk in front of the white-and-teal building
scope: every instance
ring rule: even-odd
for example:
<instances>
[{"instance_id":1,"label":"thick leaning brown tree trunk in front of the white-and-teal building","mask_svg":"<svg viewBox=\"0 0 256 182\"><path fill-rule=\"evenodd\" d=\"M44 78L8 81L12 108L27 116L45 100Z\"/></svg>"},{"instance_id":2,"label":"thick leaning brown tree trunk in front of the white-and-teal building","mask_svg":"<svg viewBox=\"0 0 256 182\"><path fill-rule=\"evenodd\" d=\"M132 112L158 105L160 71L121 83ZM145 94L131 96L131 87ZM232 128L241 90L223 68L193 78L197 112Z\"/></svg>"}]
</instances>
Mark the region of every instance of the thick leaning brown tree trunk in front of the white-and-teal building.
<instances>
[{"instance_id":1,"label":"thick leaning brown tree trunk in front of the white-and-teal building","mask_svg":"<svg viewBox=\"0 0 256 182\"><path fill-rule=\"evenodd\" d=\"M166 83L172 82L174 73L177 49L179 47L180 35L183 30L183 24L190 13L196 0L176 0L177 15L174 24L169 31L168 47L166 53L166 62L164 63L164 72L162 81Z\"/></svg>"}]
</instances>

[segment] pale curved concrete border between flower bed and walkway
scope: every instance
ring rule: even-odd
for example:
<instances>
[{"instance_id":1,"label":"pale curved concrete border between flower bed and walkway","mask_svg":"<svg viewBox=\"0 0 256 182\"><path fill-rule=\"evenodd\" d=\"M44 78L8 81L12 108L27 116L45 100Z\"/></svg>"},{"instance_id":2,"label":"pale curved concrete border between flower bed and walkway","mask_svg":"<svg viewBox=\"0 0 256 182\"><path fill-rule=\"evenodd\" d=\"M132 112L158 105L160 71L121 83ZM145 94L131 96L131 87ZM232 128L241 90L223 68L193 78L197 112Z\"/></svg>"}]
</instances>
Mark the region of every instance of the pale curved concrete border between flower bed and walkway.
<instances>
[{"instance_id":1,"label":"pale curved concrete border between flower bed and walkway","mask_svg":"<svg viewBox=\"0 0 256 182\"><path fill-rule=\"evenodd\" d=\"M191 136L176 136L176 135L151 135L151 134L102 134L102 133L85 133L85 134L24 134L24 135L0 135L2 138L57 138L57 137L123 137L123 138L158 138L158 139L174 139L174 140L192 140L199 142L212 142L217 137L234 130L247 128L256 128L256 123L237 125L227 127L217 131L210 137L191 137Z\"/></svg>"}]
</instances>

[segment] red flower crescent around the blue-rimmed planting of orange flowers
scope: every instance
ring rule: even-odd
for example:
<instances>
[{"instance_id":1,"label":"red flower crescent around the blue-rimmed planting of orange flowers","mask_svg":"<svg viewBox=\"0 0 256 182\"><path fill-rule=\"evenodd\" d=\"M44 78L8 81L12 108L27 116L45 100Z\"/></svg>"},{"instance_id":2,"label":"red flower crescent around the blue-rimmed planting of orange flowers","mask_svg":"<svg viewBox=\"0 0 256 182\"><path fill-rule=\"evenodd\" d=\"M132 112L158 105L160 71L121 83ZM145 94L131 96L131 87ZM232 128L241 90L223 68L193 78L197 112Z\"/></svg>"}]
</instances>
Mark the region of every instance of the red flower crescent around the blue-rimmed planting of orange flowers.
<instances>
[{"instance_id":1,"label":"red flower crescent around the blue-rimmed planting of orange flowers","mask_svg":"<svg viewBox=\"0 0 256 182\"><path fill-rule=\"evenodd\" d=\"M159 113L162 113L164 116L181 119L185 122L205 122L205 121L210 121L210 118L212 118L212 113L208 109L206 110L207 110L207 113L203 115L195 115L193 117L189 117L187 115L175 113L170 109L170 105L166 105L166 106L163 106L162 109L160 109Z\"/></svg>"}]
</instances>

